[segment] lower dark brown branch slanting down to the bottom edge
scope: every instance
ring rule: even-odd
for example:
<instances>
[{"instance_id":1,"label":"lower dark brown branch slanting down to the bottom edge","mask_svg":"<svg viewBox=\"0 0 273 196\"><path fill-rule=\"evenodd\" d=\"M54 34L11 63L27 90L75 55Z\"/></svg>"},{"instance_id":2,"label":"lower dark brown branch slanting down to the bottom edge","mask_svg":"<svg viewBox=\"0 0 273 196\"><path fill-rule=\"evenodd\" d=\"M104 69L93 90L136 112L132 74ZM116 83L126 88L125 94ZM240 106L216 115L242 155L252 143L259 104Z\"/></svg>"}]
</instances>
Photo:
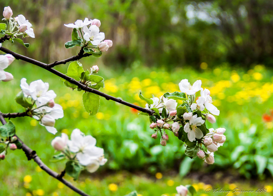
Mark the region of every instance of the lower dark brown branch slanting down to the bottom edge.
<instances>
[{"instance_id":1,"label":"lower dark brown branch slanting down to the bottom edge","mask_svg":"<svg viewBox=\"0 0 273 196\"><path fill-rule=\"evenodd\" d=\"M1 113L0 113L0 121L2 122L3 125L7 123ZM44 170L46 173L48 173L50 176L56 178L60 182L64 183L64 185L66 185L67 187L69 187L70 189L75 191L76 193L78 193L82 196L90 196L90 195L86 194L85 192L81 191L80 189L76 188L75 186L73 186L68 181L64 180L58 173L49 169L49 167L46 166L43 163L43 161L41 161L40 157L38 157L38 155L36 154L35 151L33 151L31 148L29 148L16 134L15 134L15 136L17 137L17 140L22 143L22 150L25 152L28 160L33 159L42 170Z\"/></svg>"}]
</instances>

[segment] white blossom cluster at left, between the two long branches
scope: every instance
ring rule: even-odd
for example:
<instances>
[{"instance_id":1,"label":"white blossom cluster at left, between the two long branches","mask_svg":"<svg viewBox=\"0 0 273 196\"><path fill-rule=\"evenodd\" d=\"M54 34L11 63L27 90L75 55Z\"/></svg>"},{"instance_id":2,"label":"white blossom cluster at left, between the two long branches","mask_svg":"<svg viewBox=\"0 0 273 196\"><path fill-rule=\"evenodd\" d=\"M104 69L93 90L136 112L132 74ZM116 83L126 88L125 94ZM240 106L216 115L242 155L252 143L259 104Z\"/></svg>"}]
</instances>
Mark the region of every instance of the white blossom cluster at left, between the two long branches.
<instances>
[{"instance_id":1,"label":"white blossom cluster at left, between the two long branches","mask_svg":"<svg viewBox=\"0 0 273 196\"><path fill-rule=\"evenodd\" d=\"M29 115L38 120L42 126L45 126L50 133L57 133L55 119L63 118L64 112L62 106L54 102L56 94L53 90L48 90L49 84L41 80L26 83L26 78L21 79L20 87L22 92L17 95L17 103L29 109ZM23 93L23 96L21 94ZM30 103L27 99L30 99ZM37 107L34 107L36 104Z\"/></svg>"}]
</instances>

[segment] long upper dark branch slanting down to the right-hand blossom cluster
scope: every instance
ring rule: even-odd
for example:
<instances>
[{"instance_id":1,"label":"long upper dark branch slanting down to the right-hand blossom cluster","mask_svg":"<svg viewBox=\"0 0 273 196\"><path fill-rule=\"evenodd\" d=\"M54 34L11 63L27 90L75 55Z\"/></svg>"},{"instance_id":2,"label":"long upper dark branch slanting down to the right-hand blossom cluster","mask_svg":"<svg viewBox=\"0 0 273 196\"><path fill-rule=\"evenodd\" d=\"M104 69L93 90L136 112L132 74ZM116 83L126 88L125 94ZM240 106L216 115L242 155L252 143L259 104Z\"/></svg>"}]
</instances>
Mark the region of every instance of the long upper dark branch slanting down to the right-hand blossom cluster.
<instances>
[{"instance_id":1,"label":"long upper dark branch slanting down to the right-hand blossom cluster","mask_svg":"<svg viewBox=\"0 0 273 196\"><path fill-rule=\"evenodd\" d=\"M82 90L87 91L87 92L90 92L90 93L97 94L97 95L99 95L99 96L102 96L102 97L104 97L106 100L113 100L113 101L115 101L115 102L121 103L121 104L123 104L123 105L129 106L129 107L134 108L134 109L137 109L137 110L139 110L139 111L141 111L141 112L148 113L148 114L150 114L150 115L153 115L153 113L155 113L155 112L152 111L152 110L149 110L149 109L146 109L146 108L142 108L142 107L140 107L140 106L134 105L134 104L132 104L132 103L123 101L123 100L118 99L118 98L116 98L116 97L110 96L110 95L108 95L108 94L102 93L102 92L100 92L100 91L98 91L98 90L95 90L95 89L93 89L93 88L90 88L90 87L88 87L88 86L82 84L81 82L76 81L74 78L70 78L69 76L67 76L67 75L65 75L65 74L62 74L61 72L58 72L57 70L51 68L51 67L49 66L50 64L42 63L42 62L40 62L40 61L31 59L31 58L26 57L26 56L23 56L23 55L21 55L21 54L17 54L17 53L15 53L15 52L13 52L13 51L11 51L11 50L8 50L7 48L4 48L4 47L1 47L0 50L3 51L3 52L5 52L5 53L7 53L7 54L12 54L16 59L20 59L20 60L23 60L23 61L25 61L25 62L31 63L31 64L33 64L33 65L37 65L37 66L39 66L39 67L41 67L41 68L43 68L43 69L46 69L46 70L50 71L51 73L53 73L53 74L55 74L55 75L57 75L57 76L59 76L59 77L65 79L65 80L69 81L70 83L77 85L77 86L78 86L79 88L81 88ZM71 59L71 58L70 58L70 59ZM70 60L69 60L69 61L70 61ZM66 62L69 62L69 61L67 60Z\"/></svg>"}]
</instances>

